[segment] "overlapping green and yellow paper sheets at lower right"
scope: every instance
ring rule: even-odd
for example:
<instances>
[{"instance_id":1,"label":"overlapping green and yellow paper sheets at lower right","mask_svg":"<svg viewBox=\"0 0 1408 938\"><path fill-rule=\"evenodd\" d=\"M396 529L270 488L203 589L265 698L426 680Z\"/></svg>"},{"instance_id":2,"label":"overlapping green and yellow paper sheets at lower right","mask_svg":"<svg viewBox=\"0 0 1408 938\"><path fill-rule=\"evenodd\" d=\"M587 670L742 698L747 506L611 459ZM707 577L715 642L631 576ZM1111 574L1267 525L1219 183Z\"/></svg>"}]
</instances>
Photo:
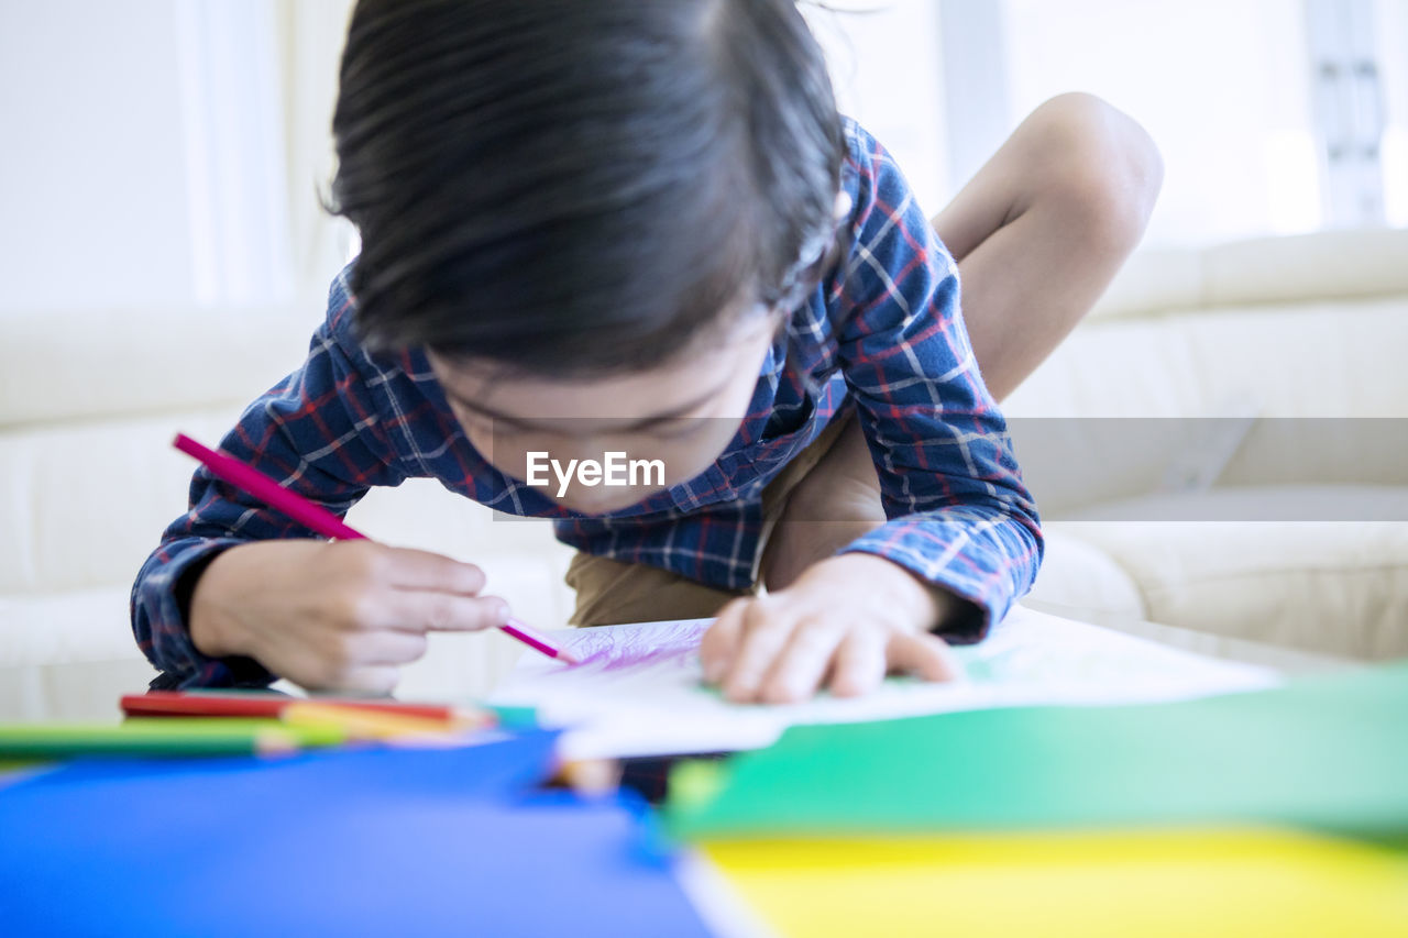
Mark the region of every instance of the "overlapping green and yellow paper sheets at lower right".
<instances>
[{"instance_id":1,"label":"overlapping green and yellow paper sheets at lower right","mask_svg":"<svg viewBox=\"0 0 1408 938\"><path fill-rule=\"evenodd\" d=\"M784 935L1404 935L1408 665L798 727L667 820Z\"/></svg>"}]
</instances>

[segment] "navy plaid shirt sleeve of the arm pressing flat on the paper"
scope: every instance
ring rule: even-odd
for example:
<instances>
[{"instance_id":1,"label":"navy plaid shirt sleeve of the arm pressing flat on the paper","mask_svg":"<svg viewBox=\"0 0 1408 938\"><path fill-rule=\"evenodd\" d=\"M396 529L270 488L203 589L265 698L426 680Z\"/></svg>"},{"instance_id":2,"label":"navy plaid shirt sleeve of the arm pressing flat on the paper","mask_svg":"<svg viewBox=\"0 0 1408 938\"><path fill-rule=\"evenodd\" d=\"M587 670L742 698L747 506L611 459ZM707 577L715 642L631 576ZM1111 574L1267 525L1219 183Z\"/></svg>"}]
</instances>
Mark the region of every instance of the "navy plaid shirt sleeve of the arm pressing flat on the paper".
<instances>
[{"instance_id":1,"label":"navy plaid shirt sleeve of the arm pressing flat on the paper","mask_svg":"<svg viewBox=\"0 0 1408 938\"><path fill-rule=\"evenodd\" d=\"M1036 577L1036 506L979 375L953 258L890 155L859 128L850 139L857 183L832 292L838 356L890 521L845 551L967 600L941 634L977 641Z\"/></svg>"}]
</instances>

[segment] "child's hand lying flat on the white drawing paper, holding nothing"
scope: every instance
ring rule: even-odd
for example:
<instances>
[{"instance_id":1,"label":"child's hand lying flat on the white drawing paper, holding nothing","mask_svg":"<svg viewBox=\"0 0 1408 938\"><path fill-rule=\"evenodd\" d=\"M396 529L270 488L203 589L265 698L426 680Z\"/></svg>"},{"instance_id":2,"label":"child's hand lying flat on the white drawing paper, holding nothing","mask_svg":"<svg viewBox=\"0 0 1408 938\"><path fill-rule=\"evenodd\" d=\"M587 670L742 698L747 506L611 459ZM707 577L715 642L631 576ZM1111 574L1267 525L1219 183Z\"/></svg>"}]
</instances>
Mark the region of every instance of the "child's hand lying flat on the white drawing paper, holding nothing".
<instances>
[{"instance_id":1,"label":"child's hand lying flat on the white drawing paper, holding nothing","mask_svg":"<svg viewBox=\"0 0 1408 938\"><path fill-rule=\"evenodd\" d=\"M928 630L955 603L883 558L829 558L781 592L725 606L700 645L704 679L738 703L805 700L824 682L863 694L890 670L948 680L957 665Z\"/></svg>"}]
</instances>

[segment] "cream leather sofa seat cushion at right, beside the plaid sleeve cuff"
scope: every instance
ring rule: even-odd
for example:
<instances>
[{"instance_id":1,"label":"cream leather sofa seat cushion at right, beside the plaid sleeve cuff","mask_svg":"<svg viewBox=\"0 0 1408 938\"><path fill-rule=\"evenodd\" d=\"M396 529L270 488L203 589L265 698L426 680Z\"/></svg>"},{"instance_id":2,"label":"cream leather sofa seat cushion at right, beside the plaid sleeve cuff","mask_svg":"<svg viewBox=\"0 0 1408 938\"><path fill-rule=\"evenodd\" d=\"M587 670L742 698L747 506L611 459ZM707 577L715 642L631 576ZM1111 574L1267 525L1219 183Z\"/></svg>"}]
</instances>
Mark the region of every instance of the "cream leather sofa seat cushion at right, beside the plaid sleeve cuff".
<instances>
[{"instance_id":1,"label":"cream leather sofa seat cushion at right, beside the plaid sleeve cuff","mask_svg":"<svg viewBox=\"0 0 1408 938\"><path fill-rule=\"evenodd\" d=\"M1408 523L1155 521L1215 517L1246 493L1152 496L1059 530L1110 555L1156 623L1350 658L1408 655ZM1264 493L1294 508L1297 492ZM1324 499L1324 489L1304 493ZM1339 492L1339 504L1354 494ZM1408 514L1408 489L1359 493L1360 514Z\"/></svg>"}]
</instances>

